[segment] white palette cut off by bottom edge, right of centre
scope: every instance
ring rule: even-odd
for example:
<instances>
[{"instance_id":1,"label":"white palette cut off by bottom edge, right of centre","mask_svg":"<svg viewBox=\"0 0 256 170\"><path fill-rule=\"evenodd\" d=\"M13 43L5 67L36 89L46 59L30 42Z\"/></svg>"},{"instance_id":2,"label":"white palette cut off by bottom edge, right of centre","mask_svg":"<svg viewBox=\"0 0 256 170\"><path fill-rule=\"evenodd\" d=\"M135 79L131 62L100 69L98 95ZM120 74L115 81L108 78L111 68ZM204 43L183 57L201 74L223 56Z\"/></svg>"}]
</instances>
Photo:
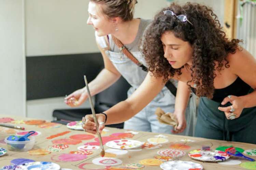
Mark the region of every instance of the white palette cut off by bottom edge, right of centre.
<instances>
[{"instance_id":1,"label":"white palette cut off by bottom edge, right of centre","mask_svg":"<svg viewBox=\"0 0 256 170\"><path fill-rule=\"evenodd\" d=\"M163 170L202 170L203 166L198 163L190 162L190 161L182 161L182 160L174 160L174 161L168 161L165 163L162 163L160 165L160 168Z\"/></svg>"}]
</instances>

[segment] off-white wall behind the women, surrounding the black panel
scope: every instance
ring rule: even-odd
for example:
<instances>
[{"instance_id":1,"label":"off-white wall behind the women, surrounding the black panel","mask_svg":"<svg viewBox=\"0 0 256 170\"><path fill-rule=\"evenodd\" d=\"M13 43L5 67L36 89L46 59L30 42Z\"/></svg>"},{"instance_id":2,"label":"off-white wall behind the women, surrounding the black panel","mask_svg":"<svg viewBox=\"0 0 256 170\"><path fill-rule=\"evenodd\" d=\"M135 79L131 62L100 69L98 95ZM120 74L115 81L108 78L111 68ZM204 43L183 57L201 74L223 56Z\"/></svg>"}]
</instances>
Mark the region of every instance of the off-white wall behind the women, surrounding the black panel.
<instances>
[{"instance_id":1,"label":"off-white wall behind the women, surrounding the black panel","mask_svg":"<svg viewBox=\"0 0 256 170\"><path fill-rule=\"evenodd\" d=\"M67 108L62 97L26 102L25 55L31 57L99 52L95 44L94 29L86 25L88 2L0 0L0 114L27 114L29 117L52 119L54 109ZM222 20L224 2L205 2L214 8ZM138 0L135 17L152 19L168 4L166 0ZM89 103L86 102L82 107L89 107Z\"/></svg>"}]
</instances>

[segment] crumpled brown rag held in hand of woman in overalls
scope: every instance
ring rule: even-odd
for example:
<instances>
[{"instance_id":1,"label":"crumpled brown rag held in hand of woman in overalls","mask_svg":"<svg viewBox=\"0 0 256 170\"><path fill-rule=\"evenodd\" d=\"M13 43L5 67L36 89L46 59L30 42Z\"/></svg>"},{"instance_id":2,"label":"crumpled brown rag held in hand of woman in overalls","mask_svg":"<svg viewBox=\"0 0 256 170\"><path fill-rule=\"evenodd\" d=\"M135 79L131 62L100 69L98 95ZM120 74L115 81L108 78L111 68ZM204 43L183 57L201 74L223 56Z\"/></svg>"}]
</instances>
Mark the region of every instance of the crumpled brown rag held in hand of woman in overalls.
<instances>
[{"instance_id":1,"label":"crumpled brown rag held in hand of woman in overalls","mask_svg":"<svg viewBox=\"0 0 256 170\"><path fill-rule=\"evenodd\" d=\"M160 107L156 109L155 112L157 119L160 123L172 125L174 129L178 126L178 121L176 116L173 113L167 112L165 113Z\"/></svg>"}]
</instances>

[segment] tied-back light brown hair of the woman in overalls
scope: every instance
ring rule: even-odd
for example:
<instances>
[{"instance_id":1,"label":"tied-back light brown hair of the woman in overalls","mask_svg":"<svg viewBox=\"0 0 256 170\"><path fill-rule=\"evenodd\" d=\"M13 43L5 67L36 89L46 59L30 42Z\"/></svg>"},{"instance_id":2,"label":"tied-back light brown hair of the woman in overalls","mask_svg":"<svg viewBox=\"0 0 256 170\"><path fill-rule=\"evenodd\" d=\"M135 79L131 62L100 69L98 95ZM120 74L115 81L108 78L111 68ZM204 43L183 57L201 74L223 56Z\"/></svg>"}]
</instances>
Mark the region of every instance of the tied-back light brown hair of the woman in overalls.
<instances>
[{"instance_id":1,"label":"tied-back light brown hair of the woman in overalls","mask_svg":"<svg viewBox=\"0 0 256 170\"><path fill-rule=\"evenodd\" d=\"M123 21L133 19L134 6L137 0L90 0L91 2L103 4L102 13L107 17L120 17Z\"/></svg>"}]
</instances>

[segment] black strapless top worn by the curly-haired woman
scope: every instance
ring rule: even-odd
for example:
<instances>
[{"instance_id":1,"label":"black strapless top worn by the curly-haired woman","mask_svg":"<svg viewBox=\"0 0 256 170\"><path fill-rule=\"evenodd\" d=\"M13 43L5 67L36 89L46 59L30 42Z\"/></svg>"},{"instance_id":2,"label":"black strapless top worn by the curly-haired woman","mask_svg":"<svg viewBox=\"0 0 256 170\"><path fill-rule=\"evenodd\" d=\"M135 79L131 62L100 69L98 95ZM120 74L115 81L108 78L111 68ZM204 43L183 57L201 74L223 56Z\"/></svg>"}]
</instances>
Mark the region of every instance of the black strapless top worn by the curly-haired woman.
<instances>
[{"instance_id":1,"label":"black strapless top worn by the curly-haired woman","mask_svg":"<svg viewBox=\"0 0 256 170\"><path fill-rule=\"evenodd\" d=\"M215 102L222 102L228 95L244 96L250 91L251 86L246 84L240 77L229 86L221 89L214 89L212 100ZM191 90L196 94L196 89L191 87Z\"/></svg>"}]
</instances>

